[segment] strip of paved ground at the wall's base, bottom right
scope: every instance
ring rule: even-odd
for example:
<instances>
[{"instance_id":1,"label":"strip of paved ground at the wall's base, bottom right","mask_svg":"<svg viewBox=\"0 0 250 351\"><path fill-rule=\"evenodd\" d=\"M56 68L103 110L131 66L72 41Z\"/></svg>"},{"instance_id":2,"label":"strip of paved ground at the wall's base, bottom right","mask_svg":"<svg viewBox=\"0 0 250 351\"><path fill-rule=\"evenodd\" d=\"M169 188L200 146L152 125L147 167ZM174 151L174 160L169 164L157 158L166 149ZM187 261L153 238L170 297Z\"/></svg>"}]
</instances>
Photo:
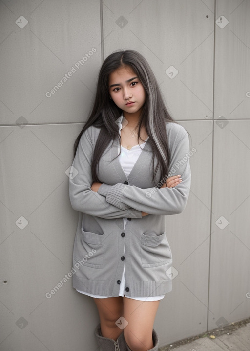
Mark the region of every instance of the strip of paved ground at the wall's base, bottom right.
<instances>
[{"instance_id":1,"label":"strip of paved ground at the wall's base, bottom right","mask_svg":"<svg viewBox=\"0 0 250 351\"><path fill-rule=\"evenodd\" d=\"M216 333L214 333L216 334ZM227 332L225 334L216 335L215 339L210 336L200 337L194 341L188 342L185 345L174 347L162 347L159 351L250 351L250 323L245 326Z\"/></svg>"}]
</instances>

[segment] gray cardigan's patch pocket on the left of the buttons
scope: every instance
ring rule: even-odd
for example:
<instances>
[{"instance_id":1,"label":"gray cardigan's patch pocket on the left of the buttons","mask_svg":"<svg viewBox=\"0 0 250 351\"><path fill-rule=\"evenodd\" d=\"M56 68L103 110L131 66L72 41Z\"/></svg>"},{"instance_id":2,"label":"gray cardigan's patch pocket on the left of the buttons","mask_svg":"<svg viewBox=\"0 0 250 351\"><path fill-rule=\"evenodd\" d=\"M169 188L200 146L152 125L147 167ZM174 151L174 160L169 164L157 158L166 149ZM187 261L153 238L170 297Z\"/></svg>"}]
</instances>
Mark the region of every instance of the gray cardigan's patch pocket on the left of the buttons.
<instances>
[{"instance_id":1,"label":"gray cardigan's patch pocket on the left of the buttons","mask_svg":"<svg viewBox=\"0 0 250 351\"><path fill-rule=\"evenodd\" d=\"M84 266L103 268L104 235L86 232L81 228L81 247L78 248L77 257ZM80 256L80 257L79 257Z\"/></svg>"}]
</instances>

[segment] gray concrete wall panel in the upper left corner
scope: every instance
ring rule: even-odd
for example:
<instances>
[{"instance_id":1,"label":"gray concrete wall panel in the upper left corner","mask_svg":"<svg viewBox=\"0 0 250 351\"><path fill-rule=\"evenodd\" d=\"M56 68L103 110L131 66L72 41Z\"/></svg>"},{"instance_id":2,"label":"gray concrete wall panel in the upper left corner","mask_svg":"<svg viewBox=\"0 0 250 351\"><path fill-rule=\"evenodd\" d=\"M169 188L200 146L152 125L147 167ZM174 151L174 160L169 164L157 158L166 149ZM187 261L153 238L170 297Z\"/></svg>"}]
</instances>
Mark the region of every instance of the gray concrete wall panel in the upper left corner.
<instances>
[{"instance_id":1,"label":"gray concrete wall panel in the upper left corner","mask_svg":"<svg viewBox=\"0 0 250 351\"><path fill-rule=\"evenodd\" d=\"M0 124L85 121L101 65L99 1L1 2L0 23Z\"/></svg>"}]
</instances>

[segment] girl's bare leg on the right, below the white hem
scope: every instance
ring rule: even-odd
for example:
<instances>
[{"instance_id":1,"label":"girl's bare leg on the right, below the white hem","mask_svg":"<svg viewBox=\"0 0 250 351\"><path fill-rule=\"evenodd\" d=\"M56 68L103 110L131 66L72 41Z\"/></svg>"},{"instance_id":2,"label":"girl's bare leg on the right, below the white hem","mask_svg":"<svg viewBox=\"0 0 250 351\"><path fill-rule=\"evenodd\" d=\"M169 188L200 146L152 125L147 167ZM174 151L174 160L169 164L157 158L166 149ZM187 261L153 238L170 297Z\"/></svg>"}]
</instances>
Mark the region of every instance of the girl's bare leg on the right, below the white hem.
<instances>
[{"instance_id":1,"label":"girl's bare leg on the right, below the white hem","mask_svg":"<svg viewBox=\"0 0 250 351\"><path fill-rule=\"evenodd\" d=\"M128 325L124 329L127 345L133 351L146 351L154 347L152 333L159 301L124 299L124 318Z\"/></svg>"}]
</instances>

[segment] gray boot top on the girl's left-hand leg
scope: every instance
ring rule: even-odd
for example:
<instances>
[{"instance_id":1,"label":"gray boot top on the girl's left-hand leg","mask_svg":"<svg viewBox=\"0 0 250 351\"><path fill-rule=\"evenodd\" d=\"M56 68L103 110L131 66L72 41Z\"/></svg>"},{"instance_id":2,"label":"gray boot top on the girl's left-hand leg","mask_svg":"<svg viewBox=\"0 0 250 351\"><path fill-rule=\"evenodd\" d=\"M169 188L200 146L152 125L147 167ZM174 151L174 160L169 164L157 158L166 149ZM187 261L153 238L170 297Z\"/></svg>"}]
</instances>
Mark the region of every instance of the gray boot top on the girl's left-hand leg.
<instances>
[{"instance_id":1,"label":"gray boot top on the girl's left-hand leg","mask_svg":"<svg viewBox=\"0 0 250 351\"><path fill-rule=\"evenodd\" d=\"M97 338L100 351L127 351L124 334L119 335L117 341L109 338L104 338L101 333L100 324L95 329L95 337Z\"/></svg>"}]
</instances>

